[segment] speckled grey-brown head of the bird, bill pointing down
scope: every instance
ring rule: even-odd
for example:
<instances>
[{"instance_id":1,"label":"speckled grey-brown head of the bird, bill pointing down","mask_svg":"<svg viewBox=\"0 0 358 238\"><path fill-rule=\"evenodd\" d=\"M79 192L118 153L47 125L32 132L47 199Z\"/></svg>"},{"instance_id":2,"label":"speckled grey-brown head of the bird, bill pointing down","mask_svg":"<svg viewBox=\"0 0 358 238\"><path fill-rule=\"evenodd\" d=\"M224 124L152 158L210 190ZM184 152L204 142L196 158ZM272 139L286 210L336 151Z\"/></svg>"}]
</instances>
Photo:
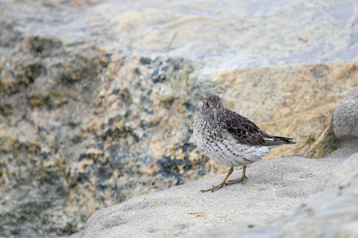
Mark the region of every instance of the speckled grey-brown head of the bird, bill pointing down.
<instances>
[{"instance_id":1,"label":"speckled grey-brown head of the bird, bill pointing down","mask_svg":"<svg viewBox=\"0 0 358 238\"><path fill-rule=\"evenodd\" d=\"M221 103L221 98L217 95L209 95L205 98L203 106L200 111L205 114L207 118L211 118L215 124L222 121L222 115L225 108Z\"/></svg>"}]
</instances>

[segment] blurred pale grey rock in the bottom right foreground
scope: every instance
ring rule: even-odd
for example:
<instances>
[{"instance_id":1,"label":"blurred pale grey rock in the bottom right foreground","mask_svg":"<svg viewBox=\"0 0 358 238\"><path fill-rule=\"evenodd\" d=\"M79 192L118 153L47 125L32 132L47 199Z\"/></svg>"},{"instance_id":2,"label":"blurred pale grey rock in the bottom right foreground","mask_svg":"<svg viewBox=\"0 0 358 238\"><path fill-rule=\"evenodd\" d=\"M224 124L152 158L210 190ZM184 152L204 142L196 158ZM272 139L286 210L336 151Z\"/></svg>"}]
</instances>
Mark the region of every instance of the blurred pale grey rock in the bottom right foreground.
<instances>
[{"instance_id":1,"label":"blurred pale grey rock in the bottom right foreground","mask_svg":"<svg viewBox=\"0 0 358 238\"><path fill-rule=\"evenodd\" d=\"M195 237L357 237L357 166L355 153L287 213L242 218Z\"/></svg>"}]
</instances>

